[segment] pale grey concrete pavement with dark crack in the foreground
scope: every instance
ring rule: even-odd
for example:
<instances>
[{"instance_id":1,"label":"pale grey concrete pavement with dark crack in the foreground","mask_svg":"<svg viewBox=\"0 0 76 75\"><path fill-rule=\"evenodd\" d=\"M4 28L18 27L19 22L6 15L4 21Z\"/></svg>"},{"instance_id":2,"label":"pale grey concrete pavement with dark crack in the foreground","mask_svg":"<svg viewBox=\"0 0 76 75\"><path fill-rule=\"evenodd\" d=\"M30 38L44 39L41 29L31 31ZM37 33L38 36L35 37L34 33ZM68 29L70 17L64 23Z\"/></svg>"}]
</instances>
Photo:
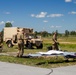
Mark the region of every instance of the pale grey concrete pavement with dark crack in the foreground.
<instances>
[{"instance_id":1,"label":"pale grey concrete pavement with dark crack in the foreground","mask_svg":"<svg viewBox=\"0 0 76 75\"><path fill-rule=\"evenodd\" d=\"M0 75L47 75L50 71L46 68L0 62ZM76 75L76 65L53 68L49 75Z\"/></svg>"}]
</instances>

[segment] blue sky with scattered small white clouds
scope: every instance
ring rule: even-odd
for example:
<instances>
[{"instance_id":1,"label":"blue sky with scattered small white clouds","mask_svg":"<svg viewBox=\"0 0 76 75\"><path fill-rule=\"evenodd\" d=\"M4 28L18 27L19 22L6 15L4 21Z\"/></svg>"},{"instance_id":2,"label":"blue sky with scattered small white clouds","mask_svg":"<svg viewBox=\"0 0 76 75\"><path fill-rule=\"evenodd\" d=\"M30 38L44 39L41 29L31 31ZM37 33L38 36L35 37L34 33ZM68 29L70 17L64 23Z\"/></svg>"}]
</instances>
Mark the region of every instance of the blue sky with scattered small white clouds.
<instances>
[{"instance_id":1,"label":"blue sky with scattered small white clouds","mask_svg":"<svg viewBox=\"0 0 76 75\"><path fill-rule=\"evenodd\" d=\"M76 30L76 0L0 0L0 31L6 22L50 33Z\"/></svg>"}]
</instances>

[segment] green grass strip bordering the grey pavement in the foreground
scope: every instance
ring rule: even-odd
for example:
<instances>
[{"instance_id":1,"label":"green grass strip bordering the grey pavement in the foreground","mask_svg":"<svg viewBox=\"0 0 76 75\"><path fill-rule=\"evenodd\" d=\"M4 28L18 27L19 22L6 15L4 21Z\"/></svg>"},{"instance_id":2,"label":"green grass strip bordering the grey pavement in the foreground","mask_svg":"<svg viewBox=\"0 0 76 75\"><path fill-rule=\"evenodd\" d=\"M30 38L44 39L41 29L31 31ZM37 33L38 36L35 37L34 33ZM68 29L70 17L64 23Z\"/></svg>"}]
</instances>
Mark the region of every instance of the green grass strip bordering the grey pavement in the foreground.
<instances>
[{"instance_id":1,"label":"green grass strip bordering the grey pavement in the foreground","mask_svg":"<svg viewBox=\"0 0 76 75\"><path fill-rule=\"evenodd\" d=\"M0 56L0 61L43 68L55 68L61 66L76 65L76 60L69 60L69 62L66 62L63 57L16 58L12 56Z\"/></svg>"}]
</instances>

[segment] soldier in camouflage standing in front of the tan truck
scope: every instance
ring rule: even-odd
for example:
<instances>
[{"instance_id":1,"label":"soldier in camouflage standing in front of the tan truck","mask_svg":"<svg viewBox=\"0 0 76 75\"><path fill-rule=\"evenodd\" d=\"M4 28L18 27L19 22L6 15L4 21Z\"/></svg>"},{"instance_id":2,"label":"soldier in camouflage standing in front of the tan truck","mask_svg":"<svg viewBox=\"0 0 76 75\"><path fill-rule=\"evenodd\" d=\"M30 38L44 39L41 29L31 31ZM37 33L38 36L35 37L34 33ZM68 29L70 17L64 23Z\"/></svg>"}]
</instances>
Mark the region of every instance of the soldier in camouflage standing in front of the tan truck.
<instances>
[{"instance_id":1,"label":"soldier in camouflage standing in front of the tan truck","mask_svg":"<svg viewBox=\"0 0 76 75\"><path fill-rule=\"evenodd\" d=\"M17 41L18 41L18 50L19 50L17 53L17 57L22 57L24 53L24 31L23 30L21 32L18 30Z\"/></svg>"}]
</instances>

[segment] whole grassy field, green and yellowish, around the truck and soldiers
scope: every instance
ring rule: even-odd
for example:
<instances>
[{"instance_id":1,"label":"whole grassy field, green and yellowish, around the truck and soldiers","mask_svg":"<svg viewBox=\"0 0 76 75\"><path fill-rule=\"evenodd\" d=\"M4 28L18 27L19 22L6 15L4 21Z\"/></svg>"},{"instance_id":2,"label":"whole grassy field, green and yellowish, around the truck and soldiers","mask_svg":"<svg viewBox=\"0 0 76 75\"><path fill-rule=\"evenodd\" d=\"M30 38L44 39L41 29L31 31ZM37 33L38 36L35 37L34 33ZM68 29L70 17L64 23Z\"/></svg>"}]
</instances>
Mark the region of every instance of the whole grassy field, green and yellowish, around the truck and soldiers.
<instances>
[{"instance_id":1,"label":"whole grassy field, green and yellowish, around the truck and soldiers","mask_svg":"<svg viewBox=\"0 0 76 75\"><path fill-rule=\"evenodd\" d=\"M76 37L61 37L58 38L60 43L59 47L61 50L74 51L76 52ZM24 54L36 53L42 51L48 51L47 47L52 45L51 37L43 38L43 49L24 49ZM13 48L7 48L6 44L4 44L2 53L10 53L10 56L0 55L0 61L10 62L10 63L18 63L23 65L37 66L37 67L60 67L60 66L68 66L68 65L76 65L76 60L73 61L70 59L68 62L65 61L63 57L39 57L39 58L16 58L13 57L12 53L17 53L17 46Z\"/></svg>"}]
</instances>

